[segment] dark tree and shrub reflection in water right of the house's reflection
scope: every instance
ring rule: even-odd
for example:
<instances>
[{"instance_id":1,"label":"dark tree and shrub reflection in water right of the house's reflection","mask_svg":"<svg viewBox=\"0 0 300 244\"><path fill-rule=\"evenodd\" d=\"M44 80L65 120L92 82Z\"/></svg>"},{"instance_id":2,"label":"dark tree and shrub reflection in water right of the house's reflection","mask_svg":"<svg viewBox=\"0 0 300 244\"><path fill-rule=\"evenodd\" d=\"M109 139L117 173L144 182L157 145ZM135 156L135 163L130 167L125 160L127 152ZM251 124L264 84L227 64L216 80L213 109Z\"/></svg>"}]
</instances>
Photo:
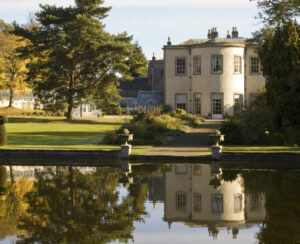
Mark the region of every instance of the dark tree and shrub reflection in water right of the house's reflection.
<instances>
[{"instance_id":1,"label":"dark tree and shrub reflection in water right of the house's reflection","mask_svg":"<svg viewBox=\"0 0 300 244\"><path fill-rule=\"evenodd\" d=\"M264 193L266 219L257 239L260 244L298 244L300 241L300 171L223 170L222 179L240 174L247 193Z\"/></svg>"}]
</instances>

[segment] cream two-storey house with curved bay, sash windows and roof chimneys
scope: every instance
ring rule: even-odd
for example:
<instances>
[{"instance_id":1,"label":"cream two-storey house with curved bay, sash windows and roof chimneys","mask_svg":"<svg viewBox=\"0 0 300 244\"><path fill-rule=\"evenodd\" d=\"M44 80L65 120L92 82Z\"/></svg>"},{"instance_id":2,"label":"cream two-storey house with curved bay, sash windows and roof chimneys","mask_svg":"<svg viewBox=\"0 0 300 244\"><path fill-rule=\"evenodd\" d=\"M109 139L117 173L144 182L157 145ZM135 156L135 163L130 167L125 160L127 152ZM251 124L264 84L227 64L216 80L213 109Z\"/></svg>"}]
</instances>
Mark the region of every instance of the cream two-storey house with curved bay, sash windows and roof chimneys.
<instances>
[{"instance_id":1,"label":"cream two-storey house with curved bay, sash windows and roof chimneys","mask_svg":"<svg viewBox=\"0 0 300 244\"><path fill-rule=\"evenodd\" d=\"M235 27L225 38L212 28L207 39L178 45L169 39L163 50L164 100L173 109L221 119L240 111L265 85L255 44Z\"/></svg>"}]
</instances>

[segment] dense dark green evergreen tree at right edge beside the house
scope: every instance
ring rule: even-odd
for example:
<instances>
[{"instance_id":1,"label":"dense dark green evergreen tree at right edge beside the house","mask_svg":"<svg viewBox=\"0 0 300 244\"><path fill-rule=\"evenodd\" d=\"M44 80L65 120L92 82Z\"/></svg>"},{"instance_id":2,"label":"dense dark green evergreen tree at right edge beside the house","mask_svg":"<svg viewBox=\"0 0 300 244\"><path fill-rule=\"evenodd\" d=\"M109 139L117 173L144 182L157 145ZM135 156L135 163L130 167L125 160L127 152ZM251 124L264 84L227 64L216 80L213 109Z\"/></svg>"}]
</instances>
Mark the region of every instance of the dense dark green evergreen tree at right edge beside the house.
<instances>
[{"instance_id":1,"label":"dense dark green evergreen tree at right edge beside the house","mask_svg":"<svg viewBox=\"0 0 300 244\"><path fill-rule=\"evenodd\" d=\"M266 78L267 102L279 129L300 132L300 26L286 22L257 36L258 54Z\"/></svg>"}]
</instances>

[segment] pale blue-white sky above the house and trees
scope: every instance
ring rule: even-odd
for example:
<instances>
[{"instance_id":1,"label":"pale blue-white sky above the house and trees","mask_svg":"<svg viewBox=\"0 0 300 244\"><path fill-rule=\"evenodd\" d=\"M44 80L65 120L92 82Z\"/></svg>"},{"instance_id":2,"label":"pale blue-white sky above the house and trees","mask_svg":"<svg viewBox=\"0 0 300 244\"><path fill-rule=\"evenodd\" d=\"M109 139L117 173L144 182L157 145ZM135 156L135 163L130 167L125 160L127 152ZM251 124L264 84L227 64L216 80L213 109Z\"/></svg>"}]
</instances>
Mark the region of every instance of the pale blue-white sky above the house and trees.
<instances>
[{"instance_id":1,"label":"pale blue-white sky above the house and trees","mask_svg":"<svg viewBox=\"0 0 300 244\"><path fill-rule=\"evenodd\" d=\"M39 4L69 6L73 0L0 0L0 19L7 23L28 22ZM172 44L191 38L206 38L208 29L217 27L220 37L238 28L239 36L251 37L261 27L258 10L249 0L106 0L112 6L104 20L106 30L126 31L142 46L147 59L153 52L163 58L162 47L168 37Z\"/></svg>"}]
</instances>

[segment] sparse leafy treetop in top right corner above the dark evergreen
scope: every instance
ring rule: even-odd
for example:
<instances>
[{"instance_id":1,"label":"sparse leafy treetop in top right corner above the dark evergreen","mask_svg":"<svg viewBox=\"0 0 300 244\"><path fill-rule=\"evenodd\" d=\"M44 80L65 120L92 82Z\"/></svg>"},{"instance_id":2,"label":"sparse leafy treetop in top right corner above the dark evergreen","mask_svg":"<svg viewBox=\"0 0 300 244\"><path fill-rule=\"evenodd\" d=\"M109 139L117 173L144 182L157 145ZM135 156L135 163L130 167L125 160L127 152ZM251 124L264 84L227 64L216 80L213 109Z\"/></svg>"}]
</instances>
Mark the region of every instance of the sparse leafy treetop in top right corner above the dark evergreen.
<instances>
[{"instance_id":1,"label":"sparse leafy treetop in top right corner above the dark evergreen","mask_svg":"<svg viewBox=\"0 0 300 244\"><path fill-rule=\"evenodd\" d=\"M270 25L278 25L300 16L299 0L257 0L257 7L261 9L259 18Z\"/></svg>"}]
</instances>

